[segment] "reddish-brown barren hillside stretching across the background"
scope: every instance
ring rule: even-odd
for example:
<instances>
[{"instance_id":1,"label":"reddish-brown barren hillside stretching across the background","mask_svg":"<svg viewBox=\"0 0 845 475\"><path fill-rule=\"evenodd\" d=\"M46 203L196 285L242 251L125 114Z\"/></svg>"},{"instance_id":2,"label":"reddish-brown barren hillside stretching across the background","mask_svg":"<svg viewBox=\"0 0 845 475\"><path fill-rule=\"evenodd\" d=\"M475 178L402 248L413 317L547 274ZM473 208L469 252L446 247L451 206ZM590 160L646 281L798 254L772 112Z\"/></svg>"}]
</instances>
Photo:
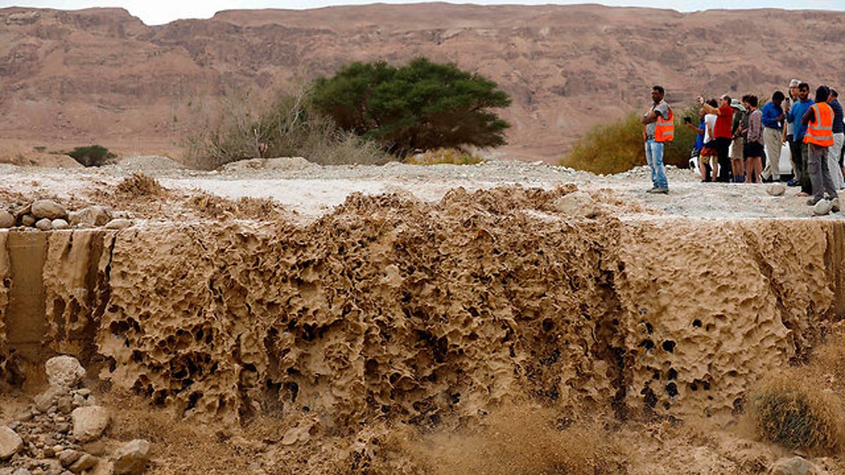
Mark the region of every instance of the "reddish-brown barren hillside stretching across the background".
<instances>
[{"instance_id":1,"label":"reddish-brown barren hillside stretching across the background","mask_svg":"<svg viewBox=\"0 0 845 475\"><path fill-rule=\"evenodd\" d=\"M650 101L845 83L845 14L580 6L370 5L226 11L147 26L123 9L0 9L0 139L177 150L226 91L272 91L351 61L424 55L513 97L510 156L553 161L578 134ZM823 54L819 54L823 52ZM829 53L824 53L829 52ZM192 109L193 107L193 109Z\"/></svg>"}]
</instances>

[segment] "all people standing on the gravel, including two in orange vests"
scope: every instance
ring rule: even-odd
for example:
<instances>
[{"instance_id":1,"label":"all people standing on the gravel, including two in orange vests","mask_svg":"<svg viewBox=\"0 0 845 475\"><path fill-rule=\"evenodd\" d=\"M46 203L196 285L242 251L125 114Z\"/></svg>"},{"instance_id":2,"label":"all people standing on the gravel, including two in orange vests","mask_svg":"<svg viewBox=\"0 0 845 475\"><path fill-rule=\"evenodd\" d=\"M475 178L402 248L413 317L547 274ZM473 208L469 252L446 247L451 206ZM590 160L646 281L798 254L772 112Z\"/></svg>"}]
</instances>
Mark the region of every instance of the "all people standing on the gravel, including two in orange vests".
<instances>
[{"instance_id":1,"label":"all people standing on the gravel, including two in orange vests","mask_svg":"<svg viewBox=\"0 0 845 475\"><path fill-rule=\"evenodd\" d=\"M674 137L674 117L664 95L662 86L651 89L653 104L641 119L651 168L648 193L668 193L662 150ZM788 96L776 91L761 108L752 95L741 101L728 95L718 101L699 97L699 123L692 123L689 117L684 117L684 123L696 132L693 154L698 156L701 181L780 181L782 172L788 174L779 167L782 145L788 144L793 178L787 184L800 186L799 195L810 197L808 205L815 205L825 194L837 199L837 190L845 188L845 122L838 96L837 90L820 85L815 99L810 99L810 85L793 79ZM838 199L834 205L838 207Z\"/></svg>"}]
</instances>

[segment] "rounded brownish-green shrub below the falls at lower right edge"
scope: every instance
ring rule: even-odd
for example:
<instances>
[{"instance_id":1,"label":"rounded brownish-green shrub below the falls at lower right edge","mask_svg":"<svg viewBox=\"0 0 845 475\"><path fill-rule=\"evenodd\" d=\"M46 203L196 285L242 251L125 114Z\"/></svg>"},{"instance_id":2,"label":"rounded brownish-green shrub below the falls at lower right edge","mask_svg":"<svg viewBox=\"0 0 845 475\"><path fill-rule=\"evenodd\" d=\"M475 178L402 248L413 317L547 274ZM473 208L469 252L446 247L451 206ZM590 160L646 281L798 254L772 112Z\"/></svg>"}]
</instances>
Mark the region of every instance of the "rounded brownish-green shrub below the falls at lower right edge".
<instances>
[{"instance_id":1,"label":"rounded brownish-green shrub below the falls at lower right edge","mask_svg":"<svg viewBox=\"0 0 845 475\"><path fill-rule=\"evenodd\" d=\"M842 399L813 368L790 369L755 390L750 416L762 440L789 449L836 452L845 444Z\"/></svg>"}]
</instances>

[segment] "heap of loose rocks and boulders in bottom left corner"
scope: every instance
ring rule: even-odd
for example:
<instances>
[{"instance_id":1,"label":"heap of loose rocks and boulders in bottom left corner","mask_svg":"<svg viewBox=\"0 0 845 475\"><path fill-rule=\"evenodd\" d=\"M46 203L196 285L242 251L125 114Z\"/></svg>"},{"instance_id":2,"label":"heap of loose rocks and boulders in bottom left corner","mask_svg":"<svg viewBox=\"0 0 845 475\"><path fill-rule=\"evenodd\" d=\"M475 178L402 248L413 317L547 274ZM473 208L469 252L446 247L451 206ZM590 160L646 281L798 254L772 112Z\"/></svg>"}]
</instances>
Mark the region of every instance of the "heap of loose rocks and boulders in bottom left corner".
<instances>
[{"instance_id":1,"label":"heap of loose rocks and boulders in bottom left corner","mask_svg":"<svg viewBox=\"0 0 845 475\"><path fill-rule=\"evenodd\" d=\"M150 443L132 440L106 454L101 440L109 411L79 387L85 369L76 358L46 363L50 386L13 423L0 426L0 475L136 475L144 472Z\"/></svg>"}]
</instances>

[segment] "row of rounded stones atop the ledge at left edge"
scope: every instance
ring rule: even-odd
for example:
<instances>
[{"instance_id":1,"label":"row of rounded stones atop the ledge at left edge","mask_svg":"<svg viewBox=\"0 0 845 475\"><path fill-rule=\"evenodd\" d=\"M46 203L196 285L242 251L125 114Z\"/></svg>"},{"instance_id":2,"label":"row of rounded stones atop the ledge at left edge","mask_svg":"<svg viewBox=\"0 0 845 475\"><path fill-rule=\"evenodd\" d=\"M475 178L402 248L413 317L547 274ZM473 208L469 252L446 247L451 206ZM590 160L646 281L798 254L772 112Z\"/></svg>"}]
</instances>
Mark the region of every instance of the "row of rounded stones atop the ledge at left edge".
<instances>
[{"instance_id":1,"label":"row of rounded stones atop the ledge at left edge","mask_svg":"<svg viewBox=\"0 0 845 475\"><path fill-rule=\"evenodd\" d=\"M41 231L53 229L106 227L123 229L132 221L113 216L106 206L89 206L81 210L66 210L52 199L38 199L14 212L0 210L0 228L35 227Z\"/></svg>"}]
</instances>

